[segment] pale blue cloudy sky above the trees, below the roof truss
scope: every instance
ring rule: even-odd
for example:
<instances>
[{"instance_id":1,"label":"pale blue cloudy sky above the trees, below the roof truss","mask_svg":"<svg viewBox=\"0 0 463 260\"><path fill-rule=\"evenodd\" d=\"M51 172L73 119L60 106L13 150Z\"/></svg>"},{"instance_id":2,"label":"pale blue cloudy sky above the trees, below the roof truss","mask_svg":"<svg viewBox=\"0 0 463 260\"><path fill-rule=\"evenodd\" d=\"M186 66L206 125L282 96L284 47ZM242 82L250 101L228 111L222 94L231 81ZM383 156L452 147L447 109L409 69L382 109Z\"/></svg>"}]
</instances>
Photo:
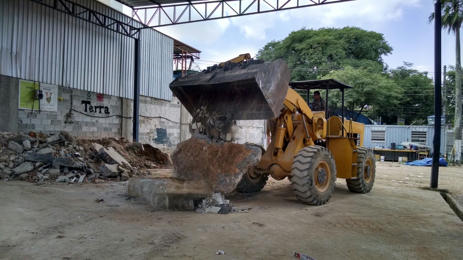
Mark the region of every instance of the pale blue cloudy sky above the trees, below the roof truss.
<instances>
[{"instance_id":1,"label":"pale blue cloudy sky above the trees, below the roof truss","mask_svg":"<svg viewBox=\"0 0 463 260\"><path fill-rule=\"evenodd\" d=\"M201 59L196 62L205 68L242 53L255 56L269 41L281 40L302 27L357 26L384 34L394 49L392 55L384 57L391 68L407 61L432 76L433 25L428 17L433 8L432 0L355 0L156 30L201 50ZM442 40L442 64L455 64L454 35L444 31Z\"/></svg>"}]
</instances>

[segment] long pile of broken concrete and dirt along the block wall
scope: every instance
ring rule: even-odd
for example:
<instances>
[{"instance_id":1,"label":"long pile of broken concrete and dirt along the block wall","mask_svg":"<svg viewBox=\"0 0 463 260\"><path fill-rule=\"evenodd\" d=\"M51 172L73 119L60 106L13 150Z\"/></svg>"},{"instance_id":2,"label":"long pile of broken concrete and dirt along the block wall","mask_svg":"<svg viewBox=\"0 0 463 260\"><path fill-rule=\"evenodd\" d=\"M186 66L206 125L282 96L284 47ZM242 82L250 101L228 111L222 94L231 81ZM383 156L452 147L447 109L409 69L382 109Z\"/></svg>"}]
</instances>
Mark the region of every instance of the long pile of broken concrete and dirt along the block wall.
<instances>
[{"instance_id":1,"label":"long pile of broken concrete and dirt along the block wall","mask_svg":"<svg viewBox=\"0 0 463 260\"><path fill-rule=\"evenodd\" d=\"M136 152L149 150L150 155ZM118 138L76 140L69 133L0 132L0 178L45 183L101 183L150 174L171 165L168 154L149 144Z\"/></svg>"}]
</instances>

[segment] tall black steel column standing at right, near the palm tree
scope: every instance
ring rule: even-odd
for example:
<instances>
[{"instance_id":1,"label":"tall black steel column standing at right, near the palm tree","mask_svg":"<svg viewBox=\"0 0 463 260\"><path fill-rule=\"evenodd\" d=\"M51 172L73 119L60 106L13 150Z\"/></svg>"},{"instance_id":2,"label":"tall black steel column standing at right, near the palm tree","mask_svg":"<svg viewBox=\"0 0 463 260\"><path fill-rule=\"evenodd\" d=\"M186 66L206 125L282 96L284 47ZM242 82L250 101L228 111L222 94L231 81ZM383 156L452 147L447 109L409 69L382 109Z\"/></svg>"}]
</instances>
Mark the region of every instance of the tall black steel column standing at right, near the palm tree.
<instances>
[{"instance_id":1,"label":"tall black steel column standing at right, near the palm tree","mask_svg":"<svg viewBox=\"0 0 463 260\"><path fill-rule=\"evenodd\" d=\"M441 2L436 0L434 4L434 139L432 151L431 188L437 188L439 179L439 155L440 155L440 126L442 109L441 86L441 30L442 14Z\"/></svg>"}]
</instances>

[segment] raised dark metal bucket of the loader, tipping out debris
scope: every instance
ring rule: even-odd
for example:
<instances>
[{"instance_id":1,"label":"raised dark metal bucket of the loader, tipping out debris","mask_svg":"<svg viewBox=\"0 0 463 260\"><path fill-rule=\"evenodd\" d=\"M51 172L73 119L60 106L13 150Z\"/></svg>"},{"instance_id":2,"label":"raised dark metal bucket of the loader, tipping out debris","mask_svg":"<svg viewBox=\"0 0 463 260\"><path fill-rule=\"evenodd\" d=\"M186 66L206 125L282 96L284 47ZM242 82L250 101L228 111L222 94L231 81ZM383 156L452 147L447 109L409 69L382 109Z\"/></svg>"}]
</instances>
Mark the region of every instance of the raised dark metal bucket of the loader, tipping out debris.
<instances>
[{"instance_id":1,"label":"raised dark metal bucket of the loader, tipping out debris","mask_svg":"<svg viewBox=\"0 0 463 260\"><path fill-rule=\"evenodd\" d=\"M179 77L170 83L172 93L191 115L202 109L216 115L231 113L235 120L275 117L288 92L290 72L282 59L263 63L250 60L243 65L228 62L198 74Z\"/></svg>"}]
</instances>

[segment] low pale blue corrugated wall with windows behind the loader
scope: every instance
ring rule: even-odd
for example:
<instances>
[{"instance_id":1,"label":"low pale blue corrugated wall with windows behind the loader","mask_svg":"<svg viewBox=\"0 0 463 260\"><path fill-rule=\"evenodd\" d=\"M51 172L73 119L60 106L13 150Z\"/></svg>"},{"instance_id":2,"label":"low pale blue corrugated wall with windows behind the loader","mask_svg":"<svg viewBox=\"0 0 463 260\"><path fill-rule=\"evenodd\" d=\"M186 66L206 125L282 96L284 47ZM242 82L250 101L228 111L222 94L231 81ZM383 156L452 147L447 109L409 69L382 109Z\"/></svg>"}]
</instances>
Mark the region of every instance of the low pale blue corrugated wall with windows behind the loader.
<instances>
[{"instance_id":1,"label":"low pale blue corrugated wall with windows behind the loader","mask_svg":"<svg viewBox=\"0 0 463 260\"><path fill-rule=\"evenodd\" d=\"M371 131L385 131L384 142L373 142L371 141ZM412 142L412 131L426 133L426 146L433 147L432 139L434 138L434 126L419 125L419 126L407 126L407 125L365 125L365 136L363 138L363 145L370 148L376 146L391 146L391 142L400 144L401 142ZM440 141L440 152L444 154L445 148L445 127L441 129L441 141Z\"/></svg>"}]
</instances>

